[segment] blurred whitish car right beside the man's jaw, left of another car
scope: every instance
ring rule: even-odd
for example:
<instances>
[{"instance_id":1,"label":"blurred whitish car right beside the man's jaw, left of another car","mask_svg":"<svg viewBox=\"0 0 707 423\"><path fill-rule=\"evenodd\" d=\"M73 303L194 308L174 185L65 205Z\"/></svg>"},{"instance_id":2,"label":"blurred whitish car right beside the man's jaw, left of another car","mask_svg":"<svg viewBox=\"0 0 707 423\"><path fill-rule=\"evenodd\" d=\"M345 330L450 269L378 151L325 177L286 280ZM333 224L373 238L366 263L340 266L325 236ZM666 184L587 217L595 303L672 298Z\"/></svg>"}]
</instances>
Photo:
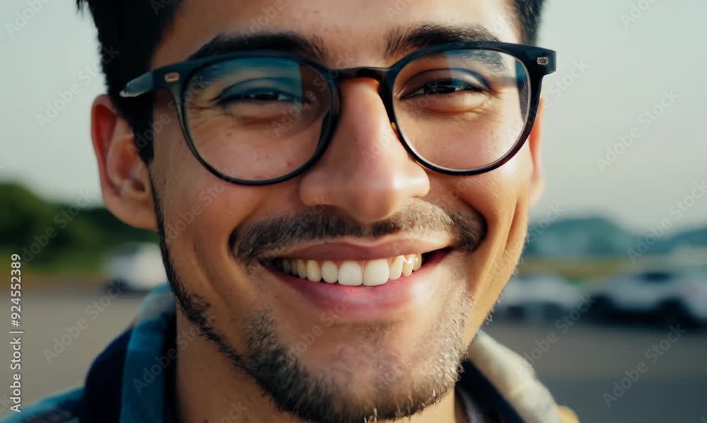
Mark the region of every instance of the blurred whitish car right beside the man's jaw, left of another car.
<instances>
[{"instance_id":1,"label":"blurred whitish car right beside the man's jaw, left of another car","mask_svg":"<svg viewBox=\"0 0 707 423\"><path fill-rule=\"evenodd\" d=\"M494 314L508 318L558 318L580 302L581 290L554 274L513 277L498 299Z\"/></svg>"}]
</instances>

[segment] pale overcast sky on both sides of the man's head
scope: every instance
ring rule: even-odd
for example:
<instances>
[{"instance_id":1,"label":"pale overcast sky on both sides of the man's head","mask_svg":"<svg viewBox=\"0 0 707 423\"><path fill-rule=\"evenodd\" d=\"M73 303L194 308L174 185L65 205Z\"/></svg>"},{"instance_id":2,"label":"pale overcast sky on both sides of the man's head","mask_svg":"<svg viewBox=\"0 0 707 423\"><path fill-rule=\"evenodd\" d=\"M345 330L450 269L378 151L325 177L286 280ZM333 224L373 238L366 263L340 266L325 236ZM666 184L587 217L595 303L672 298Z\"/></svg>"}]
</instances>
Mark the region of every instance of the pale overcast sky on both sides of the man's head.
<instances>
[{"instance_id":1,"label":"pale overcast sky on both sides of the man's head","mask_svg":"<svg viewBox=\"0 0 707 423\"><path fill-rule=\"evenodd\" d=\"M100 202L88 112L103 77L93 24L73 5L30 13L27 0L0 2L0 180L69 202L88 190ZM549 1L540 44L559 64L544 87L547 192L535 216L556 204L639 233L663 219L707 224L707 194L694 190L707 180L706 16L704 0ZM72 86L64 110L39 117Z\"/></svg>"}]
</instances>

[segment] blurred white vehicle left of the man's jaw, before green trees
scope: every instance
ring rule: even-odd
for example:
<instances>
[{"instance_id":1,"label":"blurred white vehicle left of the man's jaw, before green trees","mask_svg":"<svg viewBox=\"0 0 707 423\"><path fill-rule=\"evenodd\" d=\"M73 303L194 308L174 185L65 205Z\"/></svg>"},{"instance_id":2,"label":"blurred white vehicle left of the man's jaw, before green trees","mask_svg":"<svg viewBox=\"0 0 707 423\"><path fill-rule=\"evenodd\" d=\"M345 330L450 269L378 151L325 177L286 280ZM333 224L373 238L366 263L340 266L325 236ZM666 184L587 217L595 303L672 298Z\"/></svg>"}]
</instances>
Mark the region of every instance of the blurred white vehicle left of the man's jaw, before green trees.
<instances>
[{"instance_id":1,"label":"blurred white vehicle left of the man's jaw, before green trees","mask_svg":"<svg viewBox=\"0 0 707 423\"><path fill-rule=\"evenodd\" d=\"M128 243L113 254L105 265L106 288L144 292L167 282L162 253L156 244Z\"/></svg>"}]
</instances>

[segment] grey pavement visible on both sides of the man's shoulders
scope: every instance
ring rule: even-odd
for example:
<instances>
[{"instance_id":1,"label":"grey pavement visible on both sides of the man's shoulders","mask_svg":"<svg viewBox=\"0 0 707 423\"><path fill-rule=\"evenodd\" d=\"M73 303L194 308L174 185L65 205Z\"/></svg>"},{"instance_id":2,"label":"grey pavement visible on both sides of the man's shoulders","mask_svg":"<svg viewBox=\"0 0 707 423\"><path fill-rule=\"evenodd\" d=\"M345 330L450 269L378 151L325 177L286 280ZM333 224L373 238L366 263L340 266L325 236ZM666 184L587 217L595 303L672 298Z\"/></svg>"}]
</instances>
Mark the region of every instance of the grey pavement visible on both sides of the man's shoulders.
<instances>
[{"instance_id":1,"label":"grey pavement visible on both sides of the man's shoulders","mask_svg":"<svg viewBox=\"0 0 707 423\"><path fill-rule=\"evenodd\" d=\"M81 384L91 359L132 320L138 297L104 296L101 304L102 295L23 292L23 404ZM0 299L9 308L9 299ZM74 331L76 336L67 332L80 319L86 321L83 329ZM688 331L677 338L669 337L667 328L607 328L581 319L572 323L497 320L486 330L527 354L557 400L570 405L583 422L707 422L707 332ZM10 335L5 336L9 342ZM62 337L70 340L64 351L48 355ZM0 362L6 363L0 365L0 386L11 383L10 360L6 344L0 351ZM623 392L614 392L614 382L623 383ZM10 396L9 388L0 388L0 414L9 411Z\"/></svg>"}]
</instances>

